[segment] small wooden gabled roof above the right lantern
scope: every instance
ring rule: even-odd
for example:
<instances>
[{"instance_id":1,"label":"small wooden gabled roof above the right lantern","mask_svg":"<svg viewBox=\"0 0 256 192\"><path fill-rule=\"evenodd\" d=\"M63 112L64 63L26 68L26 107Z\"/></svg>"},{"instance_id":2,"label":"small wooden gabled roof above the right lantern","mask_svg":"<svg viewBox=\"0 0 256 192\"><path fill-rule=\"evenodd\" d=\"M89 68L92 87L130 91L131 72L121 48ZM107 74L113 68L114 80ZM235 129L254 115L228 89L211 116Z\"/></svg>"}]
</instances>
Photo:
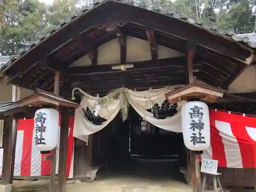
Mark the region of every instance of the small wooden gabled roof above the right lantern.
<instances>
[{"instance_id":1,"label":"small wooden gabled roof above the right lantern","mask_svg":"<svg viewBox=\"0 0 256 192\"><path fill-rule=\"evenodd\" d=\"M218 97L223 97L227 90L208 86L197 82L196 78L190 84L165 94L170 103L187 101L190 98L199 98L207 102L215 102Z\"/></svg>"}]
</instances>

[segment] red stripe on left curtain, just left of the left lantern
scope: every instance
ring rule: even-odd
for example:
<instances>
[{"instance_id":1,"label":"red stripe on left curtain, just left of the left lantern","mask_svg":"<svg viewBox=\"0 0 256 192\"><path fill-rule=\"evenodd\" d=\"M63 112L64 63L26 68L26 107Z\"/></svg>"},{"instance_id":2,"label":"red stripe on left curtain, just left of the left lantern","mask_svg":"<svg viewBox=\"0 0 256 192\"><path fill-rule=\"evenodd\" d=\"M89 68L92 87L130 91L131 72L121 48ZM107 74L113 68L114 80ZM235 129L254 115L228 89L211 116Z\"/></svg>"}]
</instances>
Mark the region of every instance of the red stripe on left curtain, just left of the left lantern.
<instances>
[{"instance_id":1,"label":"red stripe on left curtain, just left of the left lantern","mask_svg":"<svg viewBox=\"0 0 256 192\"><path fill-rule=\"evenodd\" d=\"M31 175L31 149L33 138L34 119L18 120L18 130L24 131L22 165L20 176Z\"/></svg>"}]
</instances>

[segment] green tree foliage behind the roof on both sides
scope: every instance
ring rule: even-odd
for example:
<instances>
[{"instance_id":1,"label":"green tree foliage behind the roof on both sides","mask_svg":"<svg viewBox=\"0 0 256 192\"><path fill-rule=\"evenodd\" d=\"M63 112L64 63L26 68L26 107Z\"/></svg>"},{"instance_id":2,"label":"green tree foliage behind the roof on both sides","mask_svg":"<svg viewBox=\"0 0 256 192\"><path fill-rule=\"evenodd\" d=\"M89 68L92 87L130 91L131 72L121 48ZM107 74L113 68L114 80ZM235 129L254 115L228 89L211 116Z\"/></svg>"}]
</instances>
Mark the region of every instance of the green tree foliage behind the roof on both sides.
<instances>
[{"instance_id":1,"label":"green tree foliage behind the roof on both sides","mask_svg":"<svg viewBox=\"0 0 256 192\"><path fill-rule=\"evenodd\" d=\"M172 6L189 18L215 23L236 33L256 31L256 0L146 0L159 6ZM0 55L14 55L26 49L38 33L47 33L85 0L0 0Z\"/></svg>"}]
</instances>

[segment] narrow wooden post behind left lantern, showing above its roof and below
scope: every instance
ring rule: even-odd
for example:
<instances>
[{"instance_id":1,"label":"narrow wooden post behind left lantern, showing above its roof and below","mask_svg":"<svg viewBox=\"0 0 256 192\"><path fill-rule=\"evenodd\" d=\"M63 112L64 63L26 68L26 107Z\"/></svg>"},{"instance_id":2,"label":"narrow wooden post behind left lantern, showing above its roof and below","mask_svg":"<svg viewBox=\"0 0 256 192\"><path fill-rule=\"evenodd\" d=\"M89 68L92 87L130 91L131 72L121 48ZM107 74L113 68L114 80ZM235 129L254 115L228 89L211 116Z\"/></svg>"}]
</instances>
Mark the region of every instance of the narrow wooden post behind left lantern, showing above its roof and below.
<instances>
[{"instance_id":1,"label":"narrow wooden post behind left lantern, showing above its roof and below","mask_svg":"<svg viewBox=\"0 0 256 192\"><path fill-rule=\"evenodd\" d=\"M59 81L60 81L60 73L58 71L55 72L54 78L54 94L59 96ZM56 147L51 151L51 175L50 175L50 189L49 192L56 191L55 185L56 179Z\"/></svg>"}]
</instances>

